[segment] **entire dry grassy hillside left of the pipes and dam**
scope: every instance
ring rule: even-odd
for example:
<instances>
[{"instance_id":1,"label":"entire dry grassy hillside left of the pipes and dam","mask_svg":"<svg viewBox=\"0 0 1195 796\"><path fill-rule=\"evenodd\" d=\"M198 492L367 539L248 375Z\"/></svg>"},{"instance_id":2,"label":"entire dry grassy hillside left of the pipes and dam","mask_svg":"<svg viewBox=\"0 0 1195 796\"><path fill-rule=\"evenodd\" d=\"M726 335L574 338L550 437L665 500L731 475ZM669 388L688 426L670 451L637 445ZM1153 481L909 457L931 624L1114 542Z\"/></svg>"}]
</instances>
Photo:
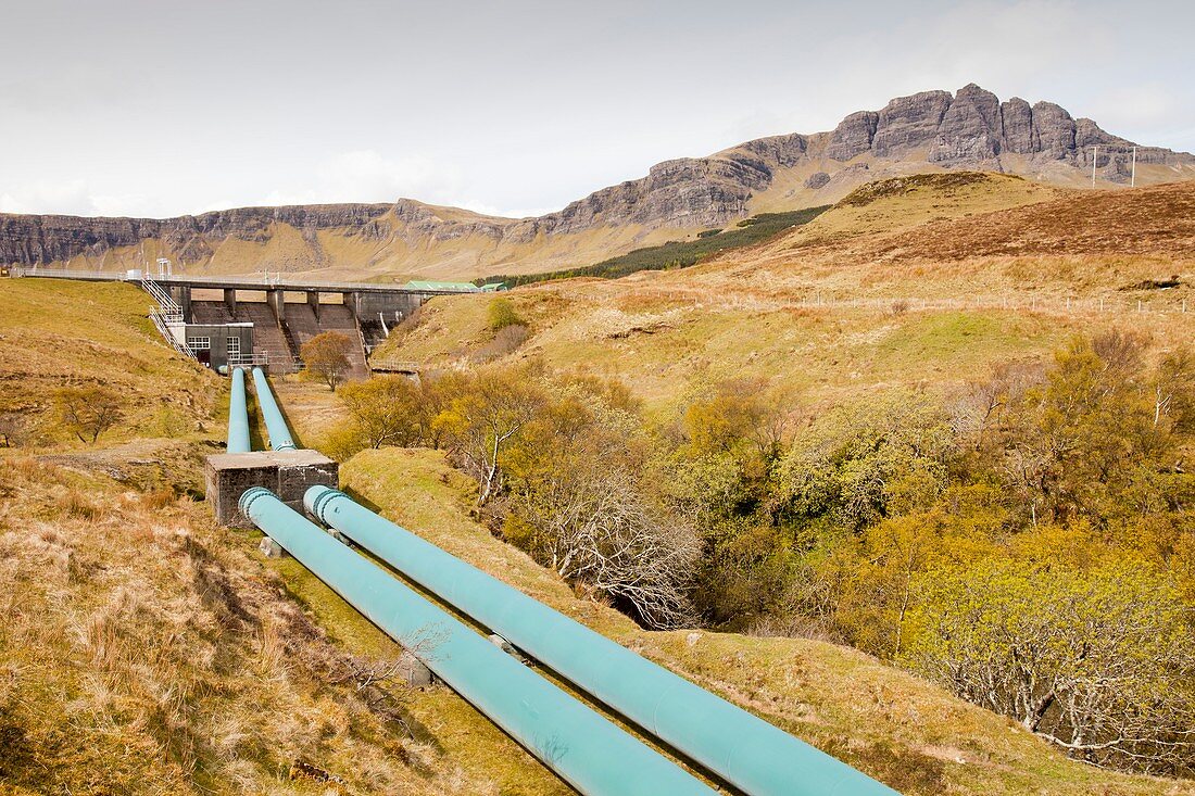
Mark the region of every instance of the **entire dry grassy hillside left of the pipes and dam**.
<instances>
[{"instance_id":1,"label":"entire dry grassy hillside left of the pipes and dam","mask_svg":"<svg viewBox=\"0 0 1195 796\"><path fill-rule=\"evenodd\" d=\"M0 448L0 792L565 792L452 692L387 681L398 648L356 644L366 623L266 567L261 534L215 526L195 500L226 382L146 306L0 281L2 409L29 425ZM127 396L97 445L48 415L80 380Z\"/></svg>"}]
</instances>

